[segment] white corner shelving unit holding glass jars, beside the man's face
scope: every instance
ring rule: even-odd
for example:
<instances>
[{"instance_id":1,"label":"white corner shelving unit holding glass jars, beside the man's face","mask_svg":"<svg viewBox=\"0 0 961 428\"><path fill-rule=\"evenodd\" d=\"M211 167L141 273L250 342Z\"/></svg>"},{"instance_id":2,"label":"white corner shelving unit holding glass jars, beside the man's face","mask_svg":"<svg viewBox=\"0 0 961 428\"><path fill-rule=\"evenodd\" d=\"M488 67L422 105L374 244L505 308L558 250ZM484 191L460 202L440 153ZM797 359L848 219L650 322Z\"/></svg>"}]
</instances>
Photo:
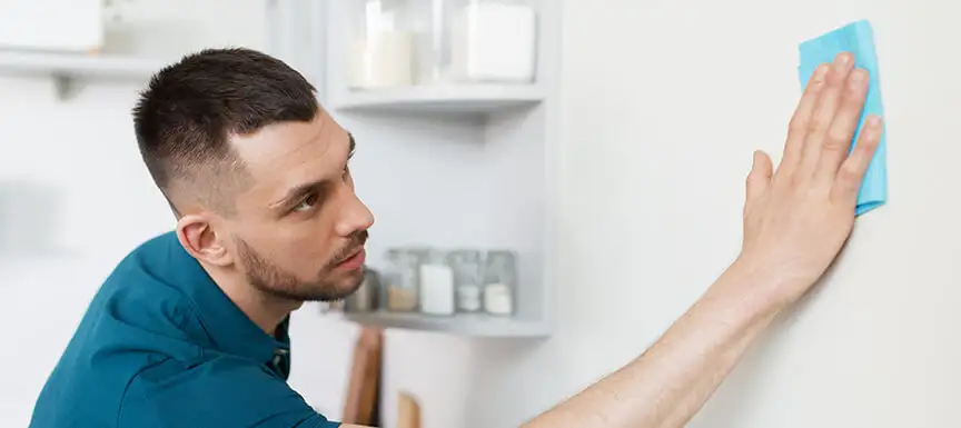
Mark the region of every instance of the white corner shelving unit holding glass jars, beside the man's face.
<instances>
[{"instance_id":1,"label":"white corner shelving unit holding glass jars, beside the man's face","mask_svg":"<svg viewBox=\"0 0 961 428\"><path fill-rule=\"evenodd\" d=\"M354 169L358 191L378 219L371 237L383 237L371 238L368 255L428 246L506 248L519 256L511 317L378 310L348 311L341 319L466 337L551 336L561 7L553 0L534 3L538 33L533 83L355 90L346 76L350 2L327 2L325 67L315 74L324 76L321 103L358 138L355 163L367 156L378 159L370 160L370 168ZM374 260L370 265L375 270L384 267Z\"/></svg>"}]
</instances>

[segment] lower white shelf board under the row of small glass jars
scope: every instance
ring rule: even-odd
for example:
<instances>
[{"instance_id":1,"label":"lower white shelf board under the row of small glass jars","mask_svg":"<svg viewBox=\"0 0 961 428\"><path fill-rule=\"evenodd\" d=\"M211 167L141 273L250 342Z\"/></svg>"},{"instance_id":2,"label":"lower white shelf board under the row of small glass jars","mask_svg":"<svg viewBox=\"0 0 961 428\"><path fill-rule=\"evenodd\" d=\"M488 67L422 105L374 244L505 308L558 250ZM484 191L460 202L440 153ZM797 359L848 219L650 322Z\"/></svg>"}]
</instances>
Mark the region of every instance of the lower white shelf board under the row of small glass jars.
<instances>
[{"instance_id":1,"label":"lower white shelf board under the row of small glass jars","mask_svg":"<svg viewBox=\"0 0 961 428\"><path fill-rule=\"evenodd\" d=\"M344 312L344 319L369 327L487 338L546 338L551 334L551 328L542 321L472 313L430 316L384 311Z\"/></svg>"}]
</instances>

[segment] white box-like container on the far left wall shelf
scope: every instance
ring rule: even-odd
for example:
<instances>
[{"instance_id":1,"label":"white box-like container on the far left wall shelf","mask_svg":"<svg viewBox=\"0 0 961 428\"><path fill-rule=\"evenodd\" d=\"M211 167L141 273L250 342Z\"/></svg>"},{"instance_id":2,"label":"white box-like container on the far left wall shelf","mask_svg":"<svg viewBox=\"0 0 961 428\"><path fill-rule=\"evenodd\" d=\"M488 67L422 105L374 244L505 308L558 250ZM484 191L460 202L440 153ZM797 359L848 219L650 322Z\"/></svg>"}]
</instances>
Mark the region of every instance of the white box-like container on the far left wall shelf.
<instances>
[{"instance_id":1,"label":"white box-like container on the far left wall shelf","mask_svg":"<svg viewBox=\"0 0 961 428\"><path fill-rule=\"evenodd\" d=\"M103 0L2 0L0 49L98 51L103 13Z\"/></svg>"}]
</instances>

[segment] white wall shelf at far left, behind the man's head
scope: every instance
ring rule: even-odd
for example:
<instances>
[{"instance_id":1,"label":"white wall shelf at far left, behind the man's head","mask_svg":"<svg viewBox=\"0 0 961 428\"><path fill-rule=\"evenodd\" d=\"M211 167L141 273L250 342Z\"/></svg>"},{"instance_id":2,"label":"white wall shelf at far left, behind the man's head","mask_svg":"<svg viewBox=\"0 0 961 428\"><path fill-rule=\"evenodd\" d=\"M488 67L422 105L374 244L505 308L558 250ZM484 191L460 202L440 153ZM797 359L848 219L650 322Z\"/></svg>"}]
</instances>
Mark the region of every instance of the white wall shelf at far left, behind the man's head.
<instances>
[{"instance_id":1,"label":"white wall shelf at far left, behind the man's head","mask_svg":"<svg viewBox=\"0 0 961 428\"><path fill-rule=\"evenodd\" d=\"M0 73L43 76L55 79L60 98L67 98L79 80L147 81L165 61L83 53L0 51Z\"/></svg>"}]
</instances>

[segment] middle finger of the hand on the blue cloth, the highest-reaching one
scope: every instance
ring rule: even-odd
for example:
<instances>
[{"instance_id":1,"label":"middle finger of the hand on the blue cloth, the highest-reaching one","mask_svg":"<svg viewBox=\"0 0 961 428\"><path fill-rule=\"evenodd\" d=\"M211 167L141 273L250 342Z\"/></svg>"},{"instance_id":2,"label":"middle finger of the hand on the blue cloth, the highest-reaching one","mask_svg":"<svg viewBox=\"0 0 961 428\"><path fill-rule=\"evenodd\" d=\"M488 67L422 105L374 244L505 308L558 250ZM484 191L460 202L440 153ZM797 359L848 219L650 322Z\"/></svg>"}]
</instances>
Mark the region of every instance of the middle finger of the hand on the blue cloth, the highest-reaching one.
<instances>
[{"instance_id":1,"label":"middle finger of the hand on the blue cloth, the highest-reaching one","mask_svg":"<svg viewBox=\"0 0 961 428\"><path fill-rule=\"evenodd\" d=\"M831 70L825 77L824 88L820 91L811 121L808 123L808 135L801 149L801 170L814 172L828 141L828 131L841 103L841 94L848 81L848 76L854 67L854 59L849 52L834 57Z\"/></svg>"}]
</instances>

